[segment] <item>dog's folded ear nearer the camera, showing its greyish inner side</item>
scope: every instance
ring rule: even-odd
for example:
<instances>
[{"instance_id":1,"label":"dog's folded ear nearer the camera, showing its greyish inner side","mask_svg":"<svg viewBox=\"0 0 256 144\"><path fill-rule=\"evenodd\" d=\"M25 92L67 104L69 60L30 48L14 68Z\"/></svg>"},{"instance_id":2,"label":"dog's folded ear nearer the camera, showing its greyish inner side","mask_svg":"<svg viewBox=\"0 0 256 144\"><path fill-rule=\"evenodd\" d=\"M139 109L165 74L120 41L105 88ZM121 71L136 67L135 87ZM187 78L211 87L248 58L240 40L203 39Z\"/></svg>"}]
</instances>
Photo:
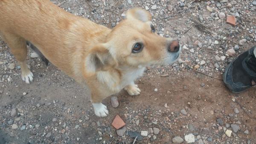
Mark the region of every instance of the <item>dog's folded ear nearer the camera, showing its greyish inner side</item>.
<instances>
[{"instance_id":1,"label":"dog's folded ear nearer the camera, showing its greyish inner side","mask_svg":"<svg viewBox=\"0 0 256 144\"><path fill-rule=\"evenodd\" d=\"M104 44L99 44L90 49L85 65L88 72L97 72L107 71L109 68L117 66L117 62L110 50Z\"/></svg>"}]
</instances>

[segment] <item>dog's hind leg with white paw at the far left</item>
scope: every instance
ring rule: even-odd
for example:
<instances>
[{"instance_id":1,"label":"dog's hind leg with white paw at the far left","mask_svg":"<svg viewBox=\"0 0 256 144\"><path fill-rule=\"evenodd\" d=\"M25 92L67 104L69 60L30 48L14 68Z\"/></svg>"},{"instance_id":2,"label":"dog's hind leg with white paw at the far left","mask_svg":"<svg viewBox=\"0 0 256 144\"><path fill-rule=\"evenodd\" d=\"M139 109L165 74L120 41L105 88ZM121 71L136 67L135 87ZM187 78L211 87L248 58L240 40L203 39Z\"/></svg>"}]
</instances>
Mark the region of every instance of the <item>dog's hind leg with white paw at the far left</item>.
<instances>
[{"instance_id":1,"label":"dog's hind leg with white paw at the far left","mask_svg":"<svg viewBox=\"0 0 256 144\"><path fill-rule=\"evenodd\" d=\"M23 37L13 34L3 34L3 40L6 41L7 45L10 47L12 54L15 56L16 60L20 64L21 78L27 84L33 81L33 73L29 70L26 64L27 58L27 47L26 40Z\"/></svg>"}]
</instances>

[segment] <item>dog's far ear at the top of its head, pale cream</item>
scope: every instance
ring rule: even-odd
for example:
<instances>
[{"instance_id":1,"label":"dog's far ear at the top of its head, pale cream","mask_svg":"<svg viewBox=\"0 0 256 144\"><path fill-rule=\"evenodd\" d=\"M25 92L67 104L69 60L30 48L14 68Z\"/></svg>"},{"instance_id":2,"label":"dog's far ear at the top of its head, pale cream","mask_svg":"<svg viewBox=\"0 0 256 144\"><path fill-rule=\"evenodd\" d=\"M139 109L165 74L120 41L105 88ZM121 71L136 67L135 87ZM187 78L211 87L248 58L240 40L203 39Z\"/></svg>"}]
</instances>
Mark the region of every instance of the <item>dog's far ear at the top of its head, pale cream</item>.
<instances>
[{"instance_id":1,"label":"dog's far ear at the top of its head, pale cream","mask_svg":"<svg viewBox=\"0 0 256 144\"><path fill-rule=\"evenodd\" d=\"M141 8L133 8L126 12L127 19L137 19L143 22L151 21L152 16L150 12L146 11L145 9Z\"/></svg>"}]
</instances>

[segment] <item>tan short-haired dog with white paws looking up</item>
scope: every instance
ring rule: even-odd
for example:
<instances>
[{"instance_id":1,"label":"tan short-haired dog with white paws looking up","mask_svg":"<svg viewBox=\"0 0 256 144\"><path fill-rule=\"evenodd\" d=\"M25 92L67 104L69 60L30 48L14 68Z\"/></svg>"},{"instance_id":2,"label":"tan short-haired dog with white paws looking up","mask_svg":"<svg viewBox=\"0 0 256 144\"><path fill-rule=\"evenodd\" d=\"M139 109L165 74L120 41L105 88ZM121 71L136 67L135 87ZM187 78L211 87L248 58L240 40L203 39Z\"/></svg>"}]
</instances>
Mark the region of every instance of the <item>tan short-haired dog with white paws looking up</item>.
<instances>
[{"instance_id":1,"label":"tan short-haired dog with white paws looking up","mask_svg":"<svg viewBox=\"0 0 256 144\"><path fill-rule=\"evenodd\" d=\"M94 112L108 115L102 100L125 89L139 95L134 80L145 66L174 62L177 41L160 37L151 14L131 9L114 29L65 12L49 0L0 0L0 35L21 68L23 81L33 74L26 64L26 41L33 43L55 66L91 91Z\"/></svg>"}]
</instances>

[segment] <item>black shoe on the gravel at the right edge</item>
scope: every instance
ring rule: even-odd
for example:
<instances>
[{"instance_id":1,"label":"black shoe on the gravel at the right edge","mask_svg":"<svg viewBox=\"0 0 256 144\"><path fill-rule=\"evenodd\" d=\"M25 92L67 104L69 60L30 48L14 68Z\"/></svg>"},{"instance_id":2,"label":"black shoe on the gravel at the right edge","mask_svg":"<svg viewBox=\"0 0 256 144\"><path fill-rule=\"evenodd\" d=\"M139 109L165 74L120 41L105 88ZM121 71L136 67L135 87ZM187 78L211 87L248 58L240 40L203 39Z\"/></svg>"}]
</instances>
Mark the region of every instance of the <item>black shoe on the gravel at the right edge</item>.
<instances>
[{"instance_id":1,"label":"black shoe on the gravel at the right edge","mask_svg":"<svg viewBox=\"0 0 256 144\"><path fill-rule=\"evenodd\" d=\"M253 54L256 46L240 54L225 69L223 81L233 93L240 93L256 82L256 58Z\"/></svg>"}]
</instances>

